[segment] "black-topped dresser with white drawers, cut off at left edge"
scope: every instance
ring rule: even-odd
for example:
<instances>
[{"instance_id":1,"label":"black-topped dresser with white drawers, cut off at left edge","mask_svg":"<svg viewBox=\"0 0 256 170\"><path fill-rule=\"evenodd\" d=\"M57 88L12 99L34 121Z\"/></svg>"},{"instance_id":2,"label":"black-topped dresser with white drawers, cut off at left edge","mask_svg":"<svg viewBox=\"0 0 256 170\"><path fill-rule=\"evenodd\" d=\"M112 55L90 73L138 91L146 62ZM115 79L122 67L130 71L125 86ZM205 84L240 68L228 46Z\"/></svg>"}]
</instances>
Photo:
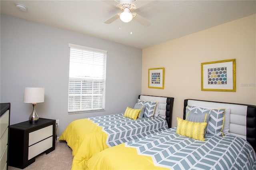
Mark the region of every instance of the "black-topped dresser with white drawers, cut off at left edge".
<instances>
[{"instance_id":1,"label":"black-topped dresser with white drawers, cut off at left edge","mask_svg":"<svg viewBox=\"0 0 256 170\"><path fill-rule=\"evenodd\" d=\"M0 170L8 169L8 134L10 124L10 103L1 103L0 117Z\"/></svg>"}]
</instances>

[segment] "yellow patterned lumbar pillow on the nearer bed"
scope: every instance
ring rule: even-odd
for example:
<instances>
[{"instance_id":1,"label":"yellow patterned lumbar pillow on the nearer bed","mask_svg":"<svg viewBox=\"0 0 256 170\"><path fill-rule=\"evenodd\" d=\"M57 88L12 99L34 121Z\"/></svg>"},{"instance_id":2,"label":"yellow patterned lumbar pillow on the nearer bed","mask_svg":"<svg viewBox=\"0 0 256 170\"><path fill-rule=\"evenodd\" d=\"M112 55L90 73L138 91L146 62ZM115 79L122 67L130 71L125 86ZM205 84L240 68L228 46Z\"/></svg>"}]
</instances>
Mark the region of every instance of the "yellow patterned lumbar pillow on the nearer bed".
<instances>
[{"instance_id":1,"label":"yellow patterned lumbar pillow on the nearer bed","mask_svg":"<svg viewBox=\"0 0 256 170\"><path fill-rule=\"evenodd\" d=\"M177 117L177 124L177 134L204 141L206 122L190 122Z\"/></svg>"}]
</instances>

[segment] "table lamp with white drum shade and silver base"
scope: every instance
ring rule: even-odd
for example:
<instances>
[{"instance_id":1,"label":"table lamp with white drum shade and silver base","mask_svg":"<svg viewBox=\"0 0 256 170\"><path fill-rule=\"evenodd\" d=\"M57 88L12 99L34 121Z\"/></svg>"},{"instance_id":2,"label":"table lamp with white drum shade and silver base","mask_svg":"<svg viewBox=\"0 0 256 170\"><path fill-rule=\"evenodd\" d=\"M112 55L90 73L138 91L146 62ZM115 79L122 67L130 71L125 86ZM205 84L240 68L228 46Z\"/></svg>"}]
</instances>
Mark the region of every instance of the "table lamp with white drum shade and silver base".
<instances>
[{"instance_id":1,"label":"table lamp with white drum shade and silver base","mask_svg":"<svg viewBox=\"0 0 256 170\"><path fill-rule=\"evenodd\" d=\"M26 87L24 91L24 103L32 103L33 111L29 116L29 121L34 123L39 117L36 113L36 103L44 102L44 88Z\"/></svg>"}]
</instances>

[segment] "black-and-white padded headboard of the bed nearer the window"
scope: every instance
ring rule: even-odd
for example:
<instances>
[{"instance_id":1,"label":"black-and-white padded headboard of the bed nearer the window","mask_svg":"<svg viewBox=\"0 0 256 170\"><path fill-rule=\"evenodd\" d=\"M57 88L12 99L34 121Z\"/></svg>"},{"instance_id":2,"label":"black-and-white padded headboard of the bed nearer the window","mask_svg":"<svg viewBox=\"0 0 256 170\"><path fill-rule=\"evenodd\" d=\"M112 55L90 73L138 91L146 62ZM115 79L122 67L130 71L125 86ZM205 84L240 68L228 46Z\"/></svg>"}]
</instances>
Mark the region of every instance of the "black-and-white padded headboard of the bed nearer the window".
<instances>
[{"instance_id":1,"label":"black-and-white padded headboard of the bed nearer the window","mask_svg":"<svg viewBox=\"0 0 256 170\"><path fill-rule=\"evenodd\" d=\"M157 101L160 104L160 115L165 116L169 128L172 126L173 97L139 95L139 99Z\"/></svg>"}]
</instances>

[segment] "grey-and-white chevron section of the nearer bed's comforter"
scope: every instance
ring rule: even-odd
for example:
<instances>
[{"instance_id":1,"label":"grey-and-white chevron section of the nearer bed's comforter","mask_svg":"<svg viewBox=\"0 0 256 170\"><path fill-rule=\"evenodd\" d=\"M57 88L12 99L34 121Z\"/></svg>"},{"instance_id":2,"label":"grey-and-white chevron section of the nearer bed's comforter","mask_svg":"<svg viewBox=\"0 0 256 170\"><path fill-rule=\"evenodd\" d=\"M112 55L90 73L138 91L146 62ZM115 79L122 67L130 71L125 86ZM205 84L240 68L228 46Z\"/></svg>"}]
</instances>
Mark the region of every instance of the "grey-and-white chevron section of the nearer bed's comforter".
<instances>
[{"instance_id":1,"label":"grey-and-white chevron section of the nearer bed's comforter","mask_svg":"<svg viewBox=\"0 0 256 170\"><path fill-rule=\"evenodd\" d=\"M240 137L209 134L205 141L176 134L176 127L125 143L139 155L150 156L155 166L175 170L255 170L256 153Z\"/></svg>"}]
</instances>

